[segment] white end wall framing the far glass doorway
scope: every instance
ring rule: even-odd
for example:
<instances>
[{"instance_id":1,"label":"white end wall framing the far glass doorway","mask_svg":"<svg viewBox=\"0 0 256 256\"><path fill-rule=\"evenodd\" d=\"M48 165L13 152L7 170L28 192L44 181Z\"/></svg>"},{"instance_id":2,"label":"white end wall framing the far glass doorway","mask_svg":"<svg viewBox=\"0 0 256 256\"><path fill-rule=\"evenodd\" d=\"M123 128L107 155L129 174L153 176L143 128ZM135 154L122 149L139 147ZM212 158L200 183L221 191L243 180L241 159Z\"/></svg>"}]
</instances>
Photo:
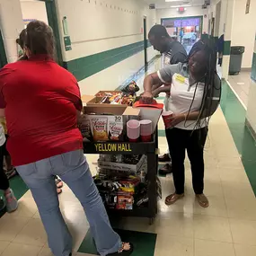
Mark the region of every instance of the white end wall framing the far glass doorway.
<instances>
[{"instance_id":1,"label":"white end wall framing the far glass doorway","mask_svg":"<svg viewBox=\"0 0 256 256\"><path fill-rule=\"evenodd\" d=\"M170 9L158 9L156 10L156 21L161 23L162 18L176 18L176 17L189 17L189 16L204 16L207 13L207 9L202 9L201 6L186 7L187 10L184 13L179 13L176 8ZM203 33L208 30L208 15L207 18L203 18Z\"/></svg>"}]
</instances>

